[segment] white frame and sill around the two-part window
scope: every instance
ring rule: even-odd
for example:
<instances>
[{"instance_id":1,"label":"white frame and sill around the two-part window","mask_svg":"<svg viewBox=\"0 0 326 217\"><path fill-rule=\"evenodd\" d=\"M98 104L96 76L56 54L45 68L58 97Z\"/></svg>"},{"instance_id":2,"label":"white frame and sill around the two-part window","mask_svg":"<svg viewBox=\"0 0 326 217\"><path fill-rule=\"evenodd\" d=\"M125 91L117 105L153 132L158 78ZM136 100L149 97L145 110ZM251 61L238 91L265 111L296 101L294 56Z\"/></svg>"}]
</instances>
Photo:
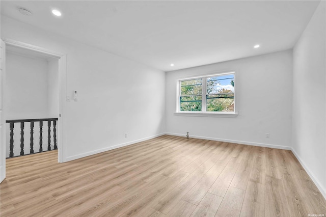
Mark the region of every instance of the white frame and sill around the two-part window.
<instances>
[{"instance_id":1,"label":"white frame and sill around the two-part window","mask_svg":"<svg viewBox=\"0 0 326 217\"><path fill-rule=\"evenodd\" d=\"M206 86L207 86L207 77L212 76L222 76L222 75L234 75L234 111L233 112L206 112ZM228 72L215 72L211 74L205 74L200 76L186 77L177 80L177 107L175 115L180 116L205 116L205 117L236 117L237 114L237 102L236 102L236 78L235 71ZM181 82L183 80L192 80L192 79L202 79L202 111L180 111L180 96L181 96Z\"/></svg>"}]
</instances>

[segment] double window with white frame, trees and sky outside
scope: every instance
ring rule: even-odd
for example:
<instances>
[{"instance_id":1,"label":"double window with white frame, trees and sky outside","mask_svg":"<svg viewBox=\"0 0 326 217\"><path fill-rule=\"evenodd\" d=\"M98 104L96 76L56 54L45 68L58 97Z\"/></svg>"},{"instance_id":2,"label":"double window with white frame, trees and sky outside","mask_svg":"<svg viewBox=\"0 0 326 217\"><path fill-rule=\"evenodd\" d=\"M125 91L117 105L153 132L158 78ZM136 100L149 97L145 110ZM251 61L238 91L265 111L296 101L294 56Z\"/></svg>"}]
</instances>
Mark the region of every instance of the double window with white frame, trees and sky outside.
<instances>
[{"instance_id":1,"label":"double window with white frame, trees and sky outside","mask_svg":"<svg viewBox=\"0 0 326 217\"><path fill-rule=\"evenodd\" d=\"M234 72L179 80L178 113L235 114Z\"/></svg>"}]
</instances>

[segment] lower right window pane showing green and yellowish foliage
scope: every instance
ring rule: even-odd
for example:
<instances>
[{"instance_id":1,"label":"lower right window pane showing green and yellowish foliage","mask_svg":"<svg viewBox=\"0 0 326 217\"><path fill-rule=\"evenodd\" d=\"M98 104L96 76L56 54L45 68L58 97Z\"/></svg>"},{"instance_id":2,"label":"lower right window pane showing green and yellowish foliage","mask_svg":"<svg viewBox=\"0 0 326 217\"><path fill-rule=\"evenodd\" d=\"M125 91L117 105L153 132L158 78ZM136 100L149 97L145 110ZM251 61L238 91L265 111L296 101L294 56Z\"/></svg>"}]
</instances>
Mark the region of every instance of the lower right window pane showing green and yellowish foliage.
<instances>
[{"instance_id":1,"label":"lower right window pane showing green and yellowish foliage","mask_svg":"<svg viewBox=\"0 0 326 217\"><path fill-rule=\"evenodd\" d=\"M208 95L206 99L207 112L234 112L234 95Z\"/></svg>"}]
</instances>

